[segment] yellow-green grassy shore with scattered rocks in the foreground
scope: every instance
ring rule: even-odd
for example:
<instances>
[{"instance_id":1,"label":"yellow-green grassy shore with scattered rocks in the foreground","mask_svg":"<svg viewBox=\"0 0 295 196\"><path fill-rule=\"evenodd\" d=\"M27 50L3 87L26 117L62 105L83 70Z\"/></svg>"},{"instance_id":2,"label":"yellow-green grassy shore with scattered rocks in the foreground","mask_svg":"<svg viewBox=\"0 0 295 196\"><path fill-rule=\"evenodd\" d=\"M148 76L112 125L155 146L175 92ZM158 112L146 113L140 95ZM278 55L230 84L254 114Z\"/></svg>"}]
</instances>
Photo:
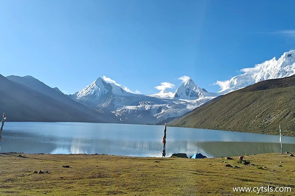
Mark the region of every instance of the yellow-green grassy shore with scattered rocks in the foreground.
<instances>
[{"instance_id":1,"label":"yellow-green grassy shore with scattered rocks in the foreground","mask_svg":"<svg viewBox=\"0 0 295 196\"><path fill-rule=\"evenodd\" d=\"M294 194L290 154L245 155L248 165L232 158L1 153L0 195L223 196L236 195L233 187L262 186L291 187L284 195Z\"/></svg>"}]
</instances>

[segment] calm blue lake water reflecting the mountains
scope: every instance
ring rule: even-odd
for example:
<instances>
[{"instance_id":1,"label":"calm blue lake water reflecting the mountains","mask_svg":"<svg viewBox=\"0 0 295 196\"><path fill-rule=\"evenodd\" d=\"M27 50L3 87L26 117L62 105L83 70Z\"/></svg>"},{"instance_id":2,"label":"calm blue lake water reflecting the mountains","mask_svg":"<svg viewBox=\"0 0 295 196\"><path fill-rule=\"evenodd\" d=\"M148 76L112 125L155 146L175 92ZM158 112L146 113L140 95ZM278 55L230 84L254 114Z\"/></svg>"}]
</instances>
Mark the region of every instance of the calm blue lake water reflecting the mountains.
<instances>
[{"instance_id":1,"label":"calm blue lake water reflecting the mountains","mask_svg":"<svg viewBox=\"0 0 295 196\"><path fill-rule=\"evenodd\" d=\"M6 122L1 152L162 156L164 126L111 123ZM207 157L280 152L279 136L167 127L166 155L201 152ZM295 151L295 137L283 137Z\"/></svg>"}]
</instances>

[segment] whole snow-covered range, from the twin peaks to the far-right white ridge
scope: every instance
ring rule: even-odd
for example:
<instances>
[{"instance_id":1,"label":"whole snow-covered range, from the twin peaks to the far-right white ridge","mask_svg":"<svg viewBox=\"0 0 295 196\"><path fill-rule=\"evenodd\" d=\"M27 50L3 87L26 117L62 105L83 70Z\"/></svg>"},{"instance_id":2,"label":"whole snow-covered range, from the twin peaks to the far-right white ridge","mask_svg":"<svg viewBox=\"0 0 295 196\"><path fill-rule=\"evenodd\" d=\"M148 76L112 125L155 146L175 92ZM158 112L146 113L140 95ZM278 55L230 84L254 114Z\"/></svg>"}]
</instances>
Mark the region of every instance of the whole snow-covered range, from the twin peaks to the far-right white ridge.
<instances>
[{"instance_id":1,"label":"whole snow-covered range, from the twin peaks to the far-right white ridge","mask_svg":"<svg viewBox=\"0 0 295 196\"><path fill-rule=\"evenodd\" d=\"M219 95L224 95L262 80L295 74L295 50L285 52L278 60L274 57L254 68L241 70L227 81L217 81L221 91L209 93L187 77L175 92L162 89L154 95L128 93L119 85L99 77L70 98L101 113L114 114L122 123L163 123L181 116Z\"/></svg>"}]
</instances>

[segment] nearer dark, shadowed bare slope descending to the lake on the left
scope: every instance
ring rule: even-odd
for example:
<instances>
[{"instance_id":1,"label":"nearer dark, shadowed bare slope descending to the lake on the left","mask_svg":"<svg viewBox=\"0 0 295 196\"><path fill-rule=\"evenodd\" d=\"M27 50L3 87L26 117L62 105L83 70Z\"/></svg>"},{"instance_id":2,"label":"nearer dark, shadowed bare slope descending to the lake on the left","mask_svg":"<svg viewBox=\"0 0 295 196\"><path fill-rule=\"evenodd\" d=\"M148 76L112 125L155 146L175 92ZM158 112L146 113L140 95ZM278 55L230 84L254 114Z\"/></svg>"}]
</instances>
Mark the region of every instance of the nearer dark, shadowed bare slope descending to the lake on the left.
<instances>
[{"instance_id":1,"label":"nearer dark, shadowed bare slope descending to the lake on the left","mask_svg":"<svg viewBox=\"0 0 295 196\"><path fill-rule=\"evenodd\" d=\"M51 91L58 94L56 98L0 75L0 112L6 112L7 121L107 122L105 117L84 105L54 89Z\"/></svg>"}]
</instances>

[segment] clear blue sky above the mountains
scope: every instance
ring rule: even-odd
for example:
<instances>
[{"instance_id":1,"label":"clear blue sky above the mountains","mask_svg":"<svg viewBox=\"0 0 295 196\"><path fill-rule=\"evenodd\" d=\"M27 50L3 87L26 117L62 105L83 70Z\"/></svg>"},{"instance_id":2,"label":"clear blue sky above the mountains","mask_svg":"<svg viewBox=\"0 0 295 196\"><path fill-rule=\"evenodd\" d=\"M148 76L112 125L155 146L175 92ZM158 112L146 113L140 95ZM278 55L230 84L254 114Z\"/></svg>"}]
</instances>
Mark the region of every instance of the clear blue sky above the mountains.
<instances>
[{"instance_id":1,"label":"clear blue sky above the mountains","mask_svg":"<svg viewBox=\"0 0 295 196\"><path fill-rule=\"evenodd\" d=\"M217 80L295 49L295 1L0 1L0 74L32 75L67 94L99 76L157 93L188 75Z\"/></svg>"}]
</instances>

